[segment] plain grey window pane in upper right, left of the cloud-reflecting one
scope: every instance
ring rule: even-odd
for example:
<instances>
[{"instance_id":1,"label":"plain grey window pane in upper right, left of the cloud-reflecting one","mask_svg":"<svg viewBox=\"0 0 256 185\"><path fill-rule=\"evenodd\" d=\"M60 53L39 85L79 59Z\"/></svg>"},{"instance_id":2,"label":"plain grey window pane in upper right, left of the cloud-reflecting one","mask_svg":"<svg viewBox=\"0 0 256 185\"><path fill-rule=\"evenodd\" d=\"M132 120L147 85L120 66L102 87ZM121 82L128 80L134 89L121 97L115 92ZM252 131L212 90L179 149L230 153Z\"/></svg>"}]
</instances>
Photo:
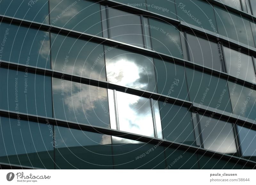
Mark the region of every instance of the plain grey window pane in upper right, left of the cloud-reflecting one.
<instances>
[{"instance_id":1,"label":"plain grey window pane in upper right, left of the cloud-reflecting one","mask_svg":"<svg viewBox=\"0 0 256 185\"><path fill-rule=\"evenodd\" d=\"M217 43L187 34L190 61L222 71Z\"/></svg>"}]
</instances>

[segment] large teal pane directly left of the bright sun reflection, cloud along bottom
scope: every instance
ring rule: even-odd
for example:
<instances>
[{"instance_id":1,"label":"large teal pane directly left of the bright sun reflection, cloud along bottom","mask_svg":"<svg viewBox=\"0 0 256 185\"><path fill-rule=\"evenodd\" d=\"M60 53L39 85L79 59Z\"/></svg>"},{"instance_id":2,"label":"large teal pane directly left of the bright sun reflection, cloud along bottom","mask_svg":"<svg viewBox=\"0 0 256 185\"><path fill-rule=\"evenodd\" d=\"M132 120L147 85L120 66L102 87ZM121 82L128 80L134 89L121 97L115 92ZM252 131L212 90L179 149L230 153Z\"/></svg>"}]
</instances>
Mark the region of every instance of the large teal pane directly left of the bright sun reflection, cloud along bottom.
<instances>
[{"instance_id":1,"label":"large teal pane directly left of the bright sun reflection, cloud along bottom","mask_svg":"<svg viewBox=\"0 0 256 185\"><path fill-rule=\"evenodd\" d=\"M52 69L71 75L106 80L103 45L51 34Z\"/></svg>"}]
</instances>

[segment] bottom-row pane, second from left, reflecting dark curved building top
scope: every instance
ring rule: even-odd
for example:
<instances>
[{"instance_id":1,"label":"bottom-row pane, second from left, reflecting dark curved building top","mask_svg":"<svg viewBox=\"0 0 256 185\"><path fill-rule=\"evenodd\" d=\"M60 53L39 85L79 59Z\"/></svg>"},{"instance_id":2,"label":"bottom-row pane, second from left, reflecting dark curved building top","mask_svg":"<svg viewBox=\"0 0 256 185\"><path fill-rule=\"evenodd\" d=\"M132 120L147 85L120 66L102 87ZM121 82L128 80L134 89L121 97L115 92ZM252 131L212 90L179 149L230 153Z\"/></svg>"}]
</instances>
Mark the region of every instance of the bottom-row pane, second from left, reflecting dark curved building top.
<instances>
[{"instance_id":1,"label":"bottom-row pane, second from left, reflecting dark curved building top","mask_svg":"<svg viewBox=\"0 0 256 185\"><path fill-rule=\"evenodd\" d=\"M57 169L113 169L111 136L59 126L54 132Z\"/></svg>"}]
</instances>

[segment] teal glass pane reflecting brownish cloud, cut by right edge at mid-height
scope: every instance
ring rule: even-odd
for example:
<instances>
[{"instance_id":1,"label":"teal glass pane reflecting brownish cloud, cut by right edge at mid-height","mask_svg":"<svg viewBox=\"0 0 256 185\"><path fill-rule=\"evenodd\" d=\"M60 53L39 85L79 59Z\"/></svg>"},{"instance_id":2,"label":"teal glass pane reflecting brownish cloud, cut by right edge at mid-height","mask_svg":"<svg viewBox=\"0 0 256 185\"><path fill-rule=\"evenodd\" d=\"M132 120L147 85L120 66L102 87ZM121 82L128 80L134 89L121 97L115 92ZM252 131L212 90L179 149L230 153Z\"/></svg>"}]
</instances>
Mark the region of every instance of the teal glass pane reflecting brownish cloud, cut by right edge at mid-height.
<instances>
[{"instance_id":1,"label":"teal glass pane reflecting brownish cloud, cut by right edge at mid-height","mask_svg":"<svg viewBox=\"0 0 256 185\"><path fill-rule=\"evenodd\" d=\"M255 83L255 82L254 82ZM253 87L253 86L252 86ZM250 118L256 119L256 91L249 87L243 87L237 82L228 82L230 92L230 99L233 108L233 113Z\"/></svg>"}]
</instances>

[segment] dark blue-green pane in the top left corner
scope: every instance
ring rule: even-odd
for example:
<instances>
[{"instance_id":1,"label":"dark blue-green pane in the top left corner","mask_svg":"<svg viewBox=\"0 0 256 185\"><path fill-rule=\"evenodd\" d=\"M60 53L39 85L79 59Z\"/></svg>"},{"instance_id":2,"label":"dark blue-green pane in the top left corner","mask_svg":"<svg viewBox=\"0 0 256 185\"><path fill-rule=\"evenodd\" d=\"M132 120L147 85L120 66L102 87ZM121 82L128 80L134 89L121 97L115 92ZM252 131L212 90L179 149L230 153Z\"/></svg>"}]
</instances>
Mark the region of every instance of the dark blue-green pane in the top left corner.
<instances>
[{"instance_id":1,"label":"dark blue-green pane in the top left corner","mask_svg":"<svg viewBox=\"0 0 256 185\"><path fill-rule=\"evenodd\" d=\"M0 14L39 23L49 24L49 0L0 1ZM33 37L32 37L33 38Z\"/></svg>"}]
</instances>

